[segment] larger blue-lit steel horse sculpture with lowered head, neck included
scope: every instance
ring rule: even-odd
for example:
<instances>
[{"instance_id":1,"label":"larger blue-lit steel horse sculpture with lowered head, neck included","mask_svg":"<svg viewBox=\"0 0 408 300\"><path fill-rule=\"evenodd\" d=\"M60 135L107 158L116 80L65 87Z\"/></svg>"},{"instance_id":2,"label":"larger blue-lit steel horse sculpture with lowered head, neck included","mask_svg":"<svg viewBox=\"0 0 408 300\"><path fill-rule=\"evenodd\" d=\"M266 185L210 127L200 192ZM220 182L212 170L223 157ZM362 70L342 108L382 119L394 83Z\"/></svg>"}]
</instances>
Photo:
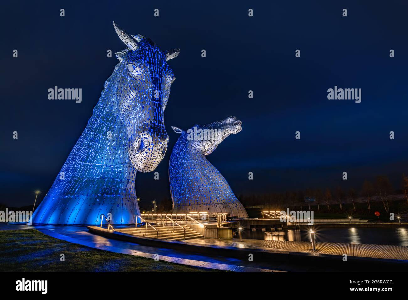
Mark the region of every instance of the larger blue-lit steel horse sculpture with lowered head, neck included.
<instances>
[{"instance_id":1,"label":"larger blue-lit steel horse sculpture with lowered head, neck included","mask_svg":"<svg viewBox=\"0 0 408 300\"><path fill-rule=\"evenodd\" d=\"M35 211L36 224L98 224L102 213L112 224L132 223L140 214L136 171L153 171L166 153L163 113L175 79L166 61L179 50L162 52L149 38L113 26L127 48L115 53L120 63Z\"/></svg>"}]
</instances>

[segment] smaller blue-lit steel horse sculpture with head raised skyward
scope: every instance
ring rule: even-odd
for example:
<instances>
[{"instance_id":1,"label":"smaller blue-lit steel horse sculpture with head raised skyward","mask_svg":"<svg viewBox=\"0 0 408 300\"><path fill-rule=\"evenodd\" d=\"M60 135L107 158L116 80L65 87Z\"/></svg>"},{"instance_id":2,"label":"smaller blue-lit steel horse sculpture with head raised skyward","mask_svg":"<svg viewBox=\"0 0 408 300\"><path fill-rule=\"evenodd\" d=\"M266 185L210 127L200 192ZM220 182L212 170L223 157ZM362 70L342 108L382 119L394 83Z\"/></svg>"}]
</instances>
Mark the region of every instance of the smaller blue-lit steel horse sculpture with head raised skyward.
<instances>
[{"instance_id":1,"label":"smaller blue-lit steel horse sculpture with head raised skyward","mask_svg":"<svg viewBox=\"0 0 408 300\"><path fill-rule=\"evenodd\" d=\"M173 212L219 212L247 218L244 206L224 176L206 159L227 136L242 130L241 121L228 117L204 126L195 125L187 131L172 128L181 134L169 166Z\"/></svg>"}]
</instances>

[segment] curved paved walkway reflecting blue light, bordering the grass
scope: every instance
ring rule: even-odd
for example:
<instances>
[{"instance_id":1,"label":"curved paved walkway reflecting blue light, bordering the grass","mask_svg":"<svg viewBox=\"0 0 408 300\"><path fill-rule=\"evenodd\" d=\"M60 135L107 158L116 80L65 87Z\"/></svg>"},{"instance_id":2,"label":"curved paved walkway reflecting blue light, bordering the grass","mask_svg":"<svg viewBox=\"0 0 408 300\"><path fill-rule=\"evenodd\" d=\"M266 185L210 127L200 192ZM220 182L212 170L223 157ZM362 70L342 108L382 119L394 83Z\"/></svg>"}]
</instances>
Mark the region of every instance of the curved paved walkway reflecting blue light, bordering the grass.
<instances>
[{"instance_id":1,"label":"curved paved walkway reflecting blue light, bordering the grass","mask_svg":"<svg viewBox=\"0 0 408 300\"><path fill-rule=\"evenodd\" d=\"M273 268L274 266L278 267L279 264L265 266L265 264L246 262L235 258L226 258L222 256L201 256L172 249L147 247L131 242L123 242L97 236L89 233L86 227L82 226L25 226L0 223L0 230L20 229L37 229L48 236L52 236L60 240L115 253L143 256L146 258L154 258L155 254L157 253L159 254L160 260L194 267L235 272L280 272L279 269Z\"/></svg>"}]
</instances>

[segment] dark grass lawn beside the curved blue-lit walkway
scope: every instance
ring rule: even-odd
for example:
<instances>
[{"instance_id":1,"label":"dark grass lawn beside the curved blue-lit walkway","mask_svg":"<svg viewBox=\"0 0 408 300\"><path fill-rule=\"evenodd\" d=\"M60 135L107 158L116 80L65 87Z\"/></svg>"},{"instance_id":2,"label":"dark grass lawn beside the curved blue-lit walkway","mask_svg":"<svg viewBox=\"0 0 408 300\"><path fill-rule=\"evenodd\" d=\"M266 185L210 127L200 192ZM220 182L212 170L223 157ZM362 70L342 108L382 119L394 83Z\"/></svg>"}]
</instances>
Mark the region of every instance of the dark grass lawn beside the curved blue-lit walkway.
<instances>
[{"instance_id":1,"label":"dark grass lawn beside the curved blue-lit walkway","mask_svg":"<svg viewBox=\"0 0 408 300\"><path fill-rule=\"evenodd\" d=\"M0 231L0 253L2 272L217 271L93 249L52 238L35 229ZM65 255L63 262L61 253Z\"/></svg>"}]
</instances>

